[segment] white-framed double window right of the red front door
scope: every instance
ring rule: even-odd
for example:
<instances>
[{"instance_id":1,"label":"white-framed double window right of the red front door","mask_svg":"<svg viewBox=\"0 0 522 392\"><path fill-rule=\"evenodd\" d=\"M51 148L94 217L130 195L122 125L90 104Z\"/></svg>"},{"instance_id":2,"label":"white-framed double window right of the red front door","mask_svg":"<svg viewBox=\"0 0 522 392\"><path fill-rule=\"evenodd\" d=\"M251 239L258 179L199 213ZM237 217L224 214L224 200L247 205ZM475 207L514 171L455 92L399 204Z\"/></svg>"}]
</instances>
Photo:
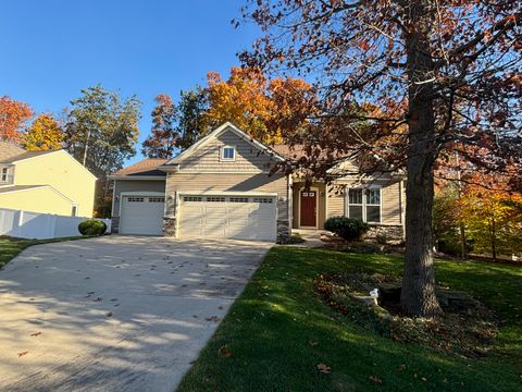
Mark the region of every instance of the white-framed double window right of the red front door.
<instances>
[{"instance_id":1,"label":"white-framed double window right of the red front door","mask_svg":"<svg viewBox=\"0 0 522 392\"><path fill-rule=\"evenodd\" d=\"M347 216L368 223L381 223L381 188L348 191Z\"/></svg>"}]
</instances>

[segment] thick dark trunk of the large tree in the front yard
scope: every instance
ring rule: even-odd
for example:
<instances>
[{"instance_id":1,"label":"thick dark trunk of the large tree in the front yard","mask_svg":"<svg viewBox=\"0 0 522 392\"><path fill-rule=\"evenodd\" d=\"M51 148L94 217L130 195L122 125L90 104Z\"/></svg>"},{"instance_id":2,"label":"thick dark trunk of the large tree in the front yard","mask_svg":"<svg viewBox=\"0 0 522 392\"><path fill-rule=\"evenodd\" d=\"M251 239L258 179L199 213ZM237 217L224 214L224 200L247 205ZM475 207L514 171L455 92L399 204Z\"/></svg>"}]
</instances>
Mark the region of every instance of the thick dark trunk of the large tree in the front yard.
<instances>
[{"instance_id":1,"label":"thick dark trunk of the large tree in the front yard","mask_svg":"<svg viewBox=\"0 0 522 392\"><path fill-rule=\"evenodd\" d=\"M428 1L410 1L406 10L409 78L406 188L406 260L400 303L410 316L433 317L440 307L433 265L433 197L436 159L433 61L430 56Z\"/></svg>"}]
</instances>

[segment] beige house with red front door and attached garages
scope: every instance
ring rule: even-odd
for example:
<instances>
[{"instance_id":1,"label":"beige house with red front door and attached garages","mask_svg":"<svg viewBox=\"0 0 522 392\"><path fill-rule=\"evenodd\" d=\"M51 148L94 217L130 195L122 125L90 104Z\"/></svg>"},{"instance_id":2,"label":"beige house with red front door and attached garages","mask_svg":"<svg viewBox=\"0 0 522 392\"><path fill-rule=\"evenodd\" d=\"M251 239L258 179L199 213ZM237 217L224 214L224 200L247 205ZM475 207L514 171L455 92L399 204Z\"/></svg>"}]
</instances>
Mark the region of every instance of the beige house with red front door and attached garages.
<instances>
[{"instance_id":1,"label":"beige house with red front door and attached garages","mask_svg":"<svg viewBox=\"0 0 522 392\"><path fill-rule=\"evenodd\" d=\"M402 237L401 176L368 179L365 186L346 177L306 188L297 174L271 173L293 155L225 123L170 160L146 159L112 175L112 230L284 242L293 228L323 229L327 218L348 216Z\"/></svg>"}]
</instances>

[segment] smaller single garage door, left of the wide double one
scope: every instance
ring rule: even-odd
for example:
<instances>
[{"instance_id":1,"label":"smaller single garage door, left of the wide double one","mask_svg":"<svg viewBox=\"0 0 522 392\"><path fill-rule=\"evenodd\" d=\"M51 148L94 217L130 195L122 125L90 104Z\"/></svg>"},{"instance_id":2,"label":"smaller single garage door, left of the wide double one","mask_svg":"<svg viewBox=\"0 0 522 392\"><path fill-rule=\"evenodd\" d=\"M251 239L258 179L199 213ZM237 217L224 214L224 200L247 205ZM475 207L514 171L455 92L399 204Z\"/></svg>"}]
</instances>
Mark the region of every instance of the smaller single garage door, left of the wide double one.
<instances>
[{"instance_id":1,"label":"smaller single garage door, left of the wide double one","mask_svg":"<svg viewBox=\"0 0 522 392\"><path fill-rule=\"evenodd\" d=\"M160 235L163 228L163 196L123 196L120 233Z\"/></svg>"}]
</instances>

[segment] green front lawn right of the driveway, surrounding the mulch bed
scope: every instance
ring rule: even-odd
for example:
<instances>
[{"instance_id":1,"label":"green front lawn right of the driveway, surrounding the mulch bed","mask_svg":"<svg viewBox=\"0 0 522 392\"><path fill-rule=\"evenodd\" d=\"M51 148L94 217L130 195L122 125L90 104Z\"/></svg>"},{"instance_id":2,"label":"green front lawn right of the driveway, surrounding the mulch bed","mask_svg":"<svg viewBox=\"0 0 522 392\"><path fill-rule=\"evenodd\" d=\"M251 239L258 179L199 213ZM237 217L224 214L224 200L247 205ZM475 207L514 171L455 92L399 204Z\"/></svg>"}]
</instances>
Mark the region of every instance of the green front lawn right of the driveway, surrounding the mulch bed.
<instances>
[{"instance_id":1,"label":"green front lawn right of the driveway, surrounding the mulch bed","mask_svg":"<svg viewBox=\"0 0 522 392\"><path fill-rule=\"evenodd\" d=\"M322 272L400 273L401 259L274 247L183 379L188 391L515 391L522 384L522 268L439 260L437 282L465 290L504 324L497 353L467 359L364 331L324 305ZM320 373L318 364L331 367Z\"/></svg>"}]
</instances>

